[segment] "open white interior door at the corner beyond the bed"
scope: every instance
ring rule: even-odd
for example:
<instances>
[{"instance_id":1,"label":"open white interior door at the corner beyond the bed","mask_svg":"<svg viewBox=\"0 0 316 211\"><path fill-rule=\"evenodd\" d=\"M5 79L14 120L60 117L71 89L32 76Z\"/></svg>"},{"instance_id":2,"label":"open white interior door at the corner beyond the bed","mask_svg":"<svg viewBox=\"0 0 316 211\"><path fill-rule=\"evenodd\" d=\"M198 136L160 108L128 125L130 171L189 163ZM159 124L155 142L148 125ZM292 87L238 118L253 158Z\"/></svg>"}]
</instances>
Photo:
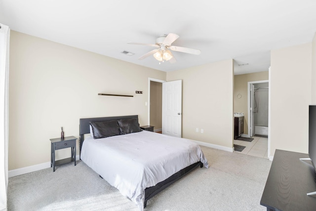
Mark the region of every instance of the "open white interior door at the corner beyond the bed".
<instances>
[{"instance_id":1,"label":"open white interior door at the corner beyond the bed","mask_svg":"<svg viewBox=\"0 0 316 211\"><path fill-rule=\"evenodd\" d=\"M162 134L182 135L182 80L162 84Z\"/></svg>"}]
</instances>

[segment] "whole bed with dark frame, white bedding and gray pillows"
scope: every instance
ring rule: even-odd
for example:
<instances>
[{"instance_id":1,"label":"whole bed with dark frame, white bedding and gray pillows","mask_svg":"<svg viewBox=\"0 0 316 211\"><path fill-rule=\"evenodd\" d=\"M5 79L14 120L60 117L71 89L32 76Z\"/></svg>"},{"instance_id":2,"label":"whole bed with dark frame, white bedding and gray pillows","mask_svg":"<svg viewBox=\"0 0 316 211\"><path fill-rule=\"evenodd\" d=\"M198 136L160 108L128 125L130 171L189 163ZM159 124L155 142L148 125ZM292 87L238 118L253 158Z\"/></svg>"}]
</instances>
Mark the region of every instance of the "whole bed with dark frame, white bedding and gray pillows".
<instances>
[{"instance_id":1,"label":"whole bed with dark frame, white bedding and gray pillows","mask_svg":"<svg viewBox=\"0 0 316 211\"><path fill-rule=\"evenodd\" d=\"M137 115L80 119L79 134L80 159L139 210L191 170L208 168L195 142L141 130Z\"/></svg>"}]
</instances>

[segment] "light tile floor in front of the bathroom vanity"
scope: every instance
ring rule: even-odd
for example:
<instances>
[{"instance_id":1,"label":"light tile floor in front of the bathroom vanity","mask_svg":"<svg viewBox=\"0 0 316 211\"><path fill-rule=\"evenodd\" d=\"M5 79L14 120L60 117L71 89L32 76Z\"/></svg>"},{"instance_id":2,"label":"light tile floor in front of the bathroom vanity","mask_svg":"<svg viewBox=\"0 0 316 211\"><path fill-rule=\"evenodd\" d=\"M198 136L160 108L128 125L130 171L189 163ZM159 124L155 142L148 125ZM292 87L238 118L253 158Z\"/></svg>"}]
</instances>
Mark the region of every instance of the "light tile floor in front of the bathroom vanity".
<instances>
[{"instance_id":1,"label":"light tile floor in front of the bathroom vanity","mask_svg":"<svg viewBox=\"0 0 316 211\"><path fill-rule=\"evenodd\" d=\"M235 152L268 159L268 138L259 136L252 138L254 139L251 142L234 140L234 144L246 147L241 152Z\"/></svg>"}]
</instances>

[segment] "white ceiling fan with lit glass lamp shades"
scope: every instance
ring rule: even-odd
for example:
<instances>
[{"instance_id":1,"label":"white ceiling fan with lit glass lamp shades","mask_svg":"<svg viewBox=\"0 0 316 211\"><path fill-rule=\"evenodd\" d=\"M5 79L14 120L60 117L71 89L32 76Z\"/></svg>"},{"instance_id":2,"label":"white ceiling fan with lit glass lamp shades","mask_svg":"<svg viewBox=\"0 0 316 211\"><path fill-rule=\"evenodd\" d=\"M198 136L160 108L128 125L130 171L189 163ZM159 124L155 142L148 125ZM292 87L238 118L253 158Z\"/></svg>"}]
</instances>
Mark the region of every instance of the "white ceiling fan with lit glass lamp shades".
<instances>
[{"instance_id":1,"label":"white ceiling fan with lit glass lamp shades","mask_svg":"<svg viewBox=\"0 0 316 211\"><path fill-rule=\"evenodd\" d=\"M178 38L179 38L179 35L169 33L168 35L162 35L159 38L157 38L156 44L146 44L146 43L139 43L139 42L127 42L127 43L157 47L156 49L151 50L148 53L142 55L138 59L144 59L147 56L154 54L154 57L159 61L159 64L161 61L163 62L164 60L169 61L170 63L177 62L177 60L174 58L170 50L184 52L184 53L191 53L195 55L198 55L201 53L201 51L197 49L171 45L172 42L174 42Z\"/></svg>"}]
</instances>

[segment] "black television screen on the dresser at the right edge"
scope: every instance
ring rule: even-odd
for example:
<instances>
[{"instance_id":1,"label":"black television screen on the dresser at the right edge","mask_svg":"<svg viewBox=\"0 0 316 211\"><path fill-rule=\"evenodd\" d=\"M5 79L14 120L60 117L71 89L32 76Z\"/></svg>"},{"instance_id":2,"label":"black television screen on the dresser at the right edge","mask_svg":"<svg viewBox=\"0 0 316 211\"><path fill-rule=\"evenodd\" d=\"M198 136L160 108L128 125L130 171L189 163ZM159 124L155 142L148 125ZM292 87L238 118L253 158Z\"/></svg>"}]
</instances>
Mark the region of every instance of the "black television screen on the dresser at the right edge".
<instances>
[{"instance_id":1,"label":"black television screen on the dresser at the right edge","mask_svg":"<svg viewBox=\"0 0 316 211\"><path fill-rule=\"evenodd\" d=\"M315 168L316 164L316 105L310 105L308 154ZM316 169L316 168L315 168Z\"/></svg>"}]
</instances>

